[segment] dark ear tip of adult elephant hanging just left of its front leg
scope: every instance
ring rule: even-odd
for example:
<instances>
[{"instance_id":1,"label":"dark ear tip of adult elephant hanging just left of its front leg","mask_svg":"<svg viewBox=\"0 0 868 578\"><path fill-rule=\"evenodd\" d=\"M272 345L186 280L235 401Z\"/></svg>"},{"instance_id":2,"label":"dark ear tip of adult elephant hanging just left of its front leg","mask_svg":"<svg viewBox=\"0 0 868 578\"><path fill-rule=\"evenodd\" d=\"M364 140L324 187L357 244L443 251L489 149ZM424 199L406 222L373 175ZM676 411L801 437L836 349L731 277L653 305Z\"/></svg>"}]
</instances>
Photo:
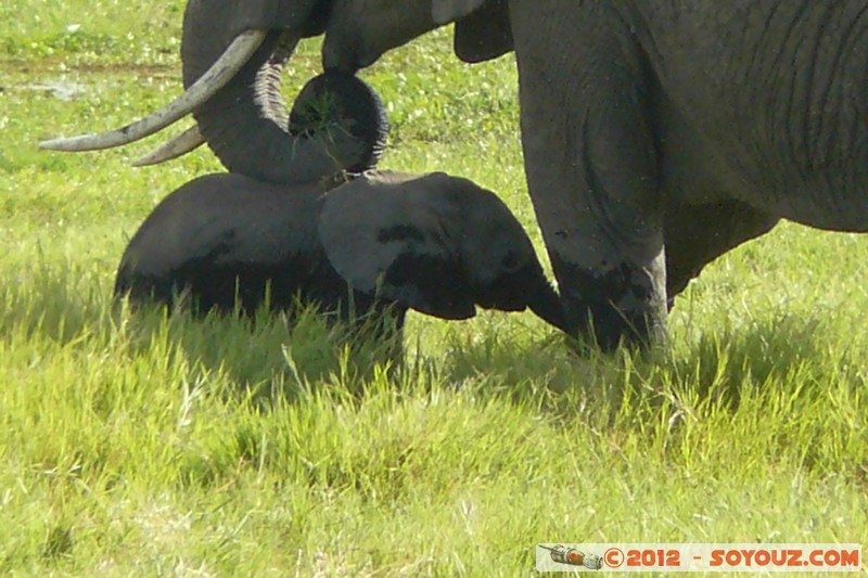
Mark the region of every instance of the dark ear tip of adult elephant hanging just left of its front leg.
<instances>
[{"instance_id":1,"label":"dark ear tip of adult elephant hanging just left of its front leg","mask_svg":"<svg viewBox=\"0 0 868 578\"><path fill-rule=\"evenodd\" d=\"M455 53L464 62L496 59L513 50L508 0L433 0L434 22L455 22Z\"/></svg>"}]
</instances>

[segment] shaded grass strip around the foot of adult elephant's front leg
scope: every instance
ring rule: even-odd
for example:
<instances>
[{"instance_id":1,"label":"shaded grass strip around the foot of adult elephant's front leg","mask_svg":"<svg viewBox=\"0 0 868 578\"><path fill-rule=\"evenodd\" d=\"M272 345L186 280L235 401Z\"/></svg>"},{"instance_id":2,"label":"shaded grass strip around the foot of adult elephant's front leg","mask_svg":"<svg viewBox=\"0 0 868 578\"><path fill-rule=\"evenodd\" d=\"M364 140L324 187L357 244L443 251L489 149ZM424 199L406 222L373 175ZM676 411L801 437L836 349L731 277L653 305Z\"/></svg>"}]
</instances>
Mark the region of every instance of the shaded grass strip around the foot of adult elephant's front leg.
<instances>
[{"instance_id":1,"label":"shaded grass strip around the foot of adult elephant's front leg","mask_svg":"<svg viewBox=\"0 0 868 578\"><path fill-rule=\"evenodd\" d=\"M717 327L692 342L673 334L674 344L654 351L603 352L563 335L528 342L513 333L452 339L444 363L447 383L474 384L481 395L506 395L556 415L596 412L592 421L601 424L616 420L626 404L641 416L637 406L658 411L686 395L737 411L748 389L817 397L830 380L866 382L858 347L846 336L831 343L834 329L817 317L780 314Z\"/></svg>"}]
</instances>

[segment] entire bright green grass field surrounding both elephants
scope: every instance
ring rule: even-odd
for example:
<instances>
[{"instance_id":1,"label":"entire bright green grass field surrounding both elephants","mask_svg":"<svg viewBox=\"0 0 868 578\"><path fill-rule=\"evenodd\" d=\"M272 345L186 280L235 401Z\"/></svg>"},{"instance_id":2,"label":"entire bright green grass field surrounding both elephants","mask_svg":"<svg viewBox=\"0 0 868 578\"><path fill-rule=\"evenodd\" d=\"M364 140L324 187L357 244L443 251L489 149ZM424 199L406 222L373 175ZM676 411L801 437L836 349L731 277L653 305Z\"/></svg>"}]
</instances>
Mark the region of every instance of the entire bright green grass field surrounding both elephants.
<instances>
[{"instance_id":1,"label":"entire bright green grass field surrounding both elephants","mask_svg":"<svg viewBox=\"0 0 868 578\"><path fill-rule=\"evenodd\" d=\"M677 300L667 351L572 355L528 314L411 314L400 367L315 317L113 303L204 147L63 155L179 92L182 2L0 8L0 574L533 574L537 542L868 543L868 237L784 223ZM293 60L291 95L317 73ZM381 167L498 191L544 255L511 56L448 31L365 74ZM866 567L863 566L863 571Z\"/></svg>"}]
</instances>

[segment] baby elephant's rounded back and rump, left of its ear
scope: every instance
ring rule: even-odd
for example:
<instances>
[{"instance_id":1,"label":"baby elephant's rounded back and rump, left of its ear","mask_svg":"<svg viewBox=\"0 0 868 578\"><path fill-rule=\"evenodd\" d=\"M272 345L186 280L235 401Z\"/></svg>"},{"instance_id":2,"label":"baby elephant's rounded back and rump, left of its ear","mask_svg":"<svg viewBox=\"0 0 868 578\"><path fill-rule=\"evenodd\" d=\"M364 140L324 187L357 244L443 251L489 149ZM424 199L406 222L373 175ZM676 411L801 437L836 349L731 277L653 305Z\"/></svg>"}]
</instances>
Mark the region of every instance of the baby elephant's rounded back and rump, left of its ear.
<instances>
[{"instance_id":1,"label":"baby elephant's rounded back and rump, left of its ear","mask_svg":"<svg viewBox=\"0 0 868 578\"><path fill-rule=\"evenodd\" d=\"M170 304L190 288L201 309L231 309L235 296L258 301L264 285L277 282L272 277L291 283L322 261L316 239L320 196L317 185L272 185L229 174L190 181L136 232L115 292Z\"/></svg>"}]
</instances>

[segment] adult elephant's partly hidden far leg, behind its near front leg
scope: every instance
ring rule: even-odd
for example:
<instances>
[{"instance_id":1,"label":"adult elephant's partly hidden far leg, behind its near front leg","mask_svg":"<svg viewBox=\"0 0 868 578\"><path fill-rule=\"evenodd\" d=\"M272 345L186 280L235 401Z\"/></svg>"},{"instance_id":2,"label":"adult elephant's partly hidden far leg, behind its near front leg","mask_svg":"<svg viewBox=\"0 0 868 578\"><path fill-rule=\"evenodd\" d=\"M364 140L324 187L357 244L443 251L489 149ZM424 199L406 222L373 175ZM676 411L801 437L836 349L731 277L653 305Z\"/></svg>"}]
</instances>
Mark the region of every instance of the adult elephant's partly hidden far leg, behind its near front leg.
<instances>
[{"instance_id":1,"label":"adult elephant's partly hidden far leg, behind its near front leg","mask_svg":"<svg viewBox=\"0 0 868 578\"><path fill-rule=\"evenodd\" d=\"M702 268L729 249L767 233L778 217L739 201L666 207L666 295L672 310L681 293Z\"/></svg>"}]
</instances>

